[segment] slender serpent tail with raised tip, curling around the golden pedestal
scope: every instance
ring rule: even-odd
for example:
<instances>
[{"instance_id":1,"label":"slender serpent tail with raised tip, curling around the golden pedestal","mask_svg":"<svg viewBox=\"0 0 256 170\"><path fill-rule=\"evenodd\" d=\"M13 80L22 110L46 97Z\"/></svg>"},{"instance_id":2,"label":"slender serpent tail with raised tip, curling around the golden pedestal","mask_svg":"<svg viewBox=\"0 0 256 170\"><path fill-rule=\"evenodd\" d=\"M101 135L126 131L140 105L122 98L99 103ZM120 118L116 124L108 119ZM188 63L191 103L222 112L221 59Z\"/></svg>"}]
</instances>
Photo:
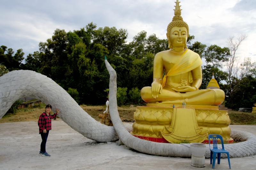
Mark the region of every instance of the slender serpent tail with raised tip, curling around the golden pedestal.
<instances>
[{"instance_id":1,"label":"slender serpent tail with raised tip, curling around the golden pedestal","mask_svg":"<svg viewBox=\"0 0 256 170\"><path fill-rule=\"evenodd\" d=\"M111 116L111 121L116 129L116 133L126 146L135 149L139 152L148 153L152 155L162 155L162 156L178 156L178 157L191 157L190 144L168 144L168 143L157 143L147 140L143 140L132 136L124 127L118 111L117 111L117 101L116 101L116 71L112 66L105 60L106 67L108 69L110 79L109 79L109 113ZM229 156L232 157L245 157L256 154L256 136L251 133L244 133L239 130L232 130L231 137L240 138L244 142L236 144L225 144L225 149L228 150ZM205 153L206 158L210 158L209 144L206 145L208 148ZM219 146L221 148L221 146ZM222 154L225 158L226 155Z\"/></svg>"}]
</instances>

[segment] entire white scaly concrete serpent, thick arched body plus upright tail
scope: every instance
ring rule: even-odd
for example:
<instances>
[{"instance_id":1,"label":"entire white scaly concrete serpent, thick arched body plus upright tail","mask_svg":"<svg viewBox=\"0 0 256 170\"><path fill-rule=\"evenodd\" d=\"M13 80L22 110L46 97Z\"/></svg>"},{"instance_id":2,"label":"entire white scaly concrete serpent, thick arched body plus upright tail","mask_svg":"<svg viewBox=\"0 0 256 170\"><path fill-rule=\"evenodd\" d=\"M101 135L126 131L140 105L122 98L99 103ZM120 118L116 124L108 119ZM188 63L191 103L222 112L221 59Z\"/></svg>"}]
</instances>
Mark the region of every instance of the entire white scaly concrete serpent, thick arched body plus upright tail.
<instances>
[{"instance_id":1,"label":"entire white scaly concrete serpent, thick arched body plus upright tail","mask_svg":"<svg viewBox=\"0 0 256 170\"><path fill-rule=\"evenodd\" d=\"M57 83L46 76L30 70L15 70L0 77L0 118L12 104L22 97L33 97L50 103L52 109L60 108L60 118L71 128L87 138L99 142L115 141L118 138L128 147L152 155L190 157L189 144L156 143L132 136L124 127L116 101L116 71L105 60L110 74L109 112L114 127L106 126L88 115L76 101ZM230 157L245 157L256 154L256 136L238 130L231 131L231 137L244 142L225 144ZM209 145L205 157L210 157ZM226 155L222 154L223 157Z\"/></svg>"}]
</instances>

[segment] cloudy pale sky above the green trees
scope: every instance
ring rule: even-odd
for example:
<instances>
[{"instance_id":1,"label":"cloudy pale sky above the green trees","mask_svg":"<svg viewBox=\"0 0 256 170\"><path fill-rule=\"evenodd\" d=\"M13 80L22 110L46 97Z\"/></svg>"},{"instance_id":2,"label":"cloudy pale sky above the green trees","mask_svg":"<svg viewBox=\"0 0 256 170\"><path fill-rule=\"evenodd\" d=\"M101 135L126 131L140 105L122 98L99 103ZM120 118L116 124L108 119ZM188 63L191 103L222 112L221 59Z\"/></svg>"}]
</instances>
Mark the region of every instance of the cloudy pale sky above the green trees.
<instances>
[{"instance_id":1,"label":"cloudy pale sky above the green trees","mask_svg":"<svg viewBox=\"0 0 256 170\"><path fill-rule=\"evenodd\" d=\"M128 31L128 42L144 30L166 38L175 0L0 0L0 46L38 51L55 29L79 30L93 22ZM255 0L180 0L190 35L206 45L227 47L229 36L246 34L237 54L256 61Z\"/></svg>"}]
</instances>

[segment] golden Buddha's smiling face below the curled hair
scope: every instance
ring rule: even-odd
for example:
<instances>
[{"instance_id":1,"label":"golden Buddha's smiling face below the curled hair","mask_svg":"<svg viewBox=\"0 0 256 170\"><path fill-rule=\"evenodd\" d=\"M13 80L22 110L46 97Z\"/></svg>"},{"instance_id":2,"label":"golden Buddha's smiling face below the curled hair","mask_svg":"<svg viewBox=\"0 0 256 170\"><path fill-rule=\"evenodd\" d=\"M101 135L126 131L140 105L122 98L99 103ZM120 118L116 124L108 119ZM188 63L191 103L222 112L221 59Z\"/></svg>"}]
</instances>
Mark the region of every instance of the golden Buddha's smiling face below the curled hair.
<instances>
[{"instance_id":1,"label":"golden Buddha's smiling face below the curled hair","mask_svg":"<svg viewBox=\"0 0 256 170\"><path fill-rule=\"evenodd\" d=\"M188 30L186 27L174 26L167 37L169 45L173 47L185 47L188 39Z\"/></svg>"}]
</instances>

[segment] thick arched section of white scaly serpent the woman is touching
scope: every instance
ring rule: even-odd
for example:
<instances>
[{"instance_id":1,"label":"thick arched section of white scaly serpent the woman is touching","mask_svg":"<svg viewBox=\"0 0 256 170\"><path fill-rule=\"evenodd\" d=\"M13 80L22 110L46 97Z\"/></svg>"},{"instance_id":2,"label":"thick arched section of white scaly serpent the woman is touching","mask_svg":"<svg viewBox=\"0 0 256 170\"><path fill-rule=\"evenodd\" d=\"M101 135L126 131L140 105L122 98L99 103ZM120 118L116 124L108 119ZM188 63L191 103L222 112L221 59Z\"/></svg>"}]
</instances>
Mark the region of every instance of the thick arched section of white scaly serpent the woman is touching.
<instances>
[{"instance_id":1,"label":"thick arched section of white scaly serpent the woman is touching","mask_svg":"<svg viewBox=\"0 0 256 170\"><path fill-rule=\"evenodd\" d=\"M115 129L97 122L51 78L30 70L15 70L0 77L0 118L12 104L23 97L33 97L60 109L58 115L71 128L99 142L118 139Z\"/></svg>"}]
</instances>

